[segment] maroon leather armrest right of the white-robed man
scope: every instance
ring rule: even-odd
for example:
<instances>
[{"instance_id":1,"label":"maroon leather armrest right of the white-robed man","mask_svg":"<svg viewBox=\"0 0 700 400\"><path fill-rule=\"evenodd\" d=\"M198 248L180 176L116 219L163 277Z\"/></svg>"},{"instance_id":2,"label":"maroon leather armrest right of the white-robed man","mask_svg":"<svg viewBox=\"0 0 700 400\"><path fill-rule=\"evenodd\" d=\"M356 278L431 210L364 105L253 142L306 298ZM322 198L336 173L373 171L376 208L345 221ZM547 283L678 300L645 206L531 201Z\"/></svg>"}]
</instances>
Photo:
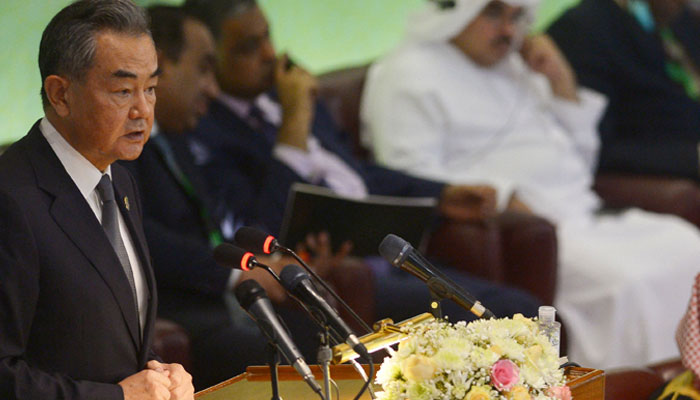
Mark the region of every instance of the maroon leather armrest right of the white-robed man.
<instances>
[{"instance_id":1,"label":"maroon leather armrest right of the white-robed man","mask_svg":"<svg viewBox=\"0 0 700 400\"><path fill-rule=\"evenodd\" d=\"M681 178L599 174L594 189L608 207L677 215L700 227L700 186Z\"/></svg>"}]
</instances>

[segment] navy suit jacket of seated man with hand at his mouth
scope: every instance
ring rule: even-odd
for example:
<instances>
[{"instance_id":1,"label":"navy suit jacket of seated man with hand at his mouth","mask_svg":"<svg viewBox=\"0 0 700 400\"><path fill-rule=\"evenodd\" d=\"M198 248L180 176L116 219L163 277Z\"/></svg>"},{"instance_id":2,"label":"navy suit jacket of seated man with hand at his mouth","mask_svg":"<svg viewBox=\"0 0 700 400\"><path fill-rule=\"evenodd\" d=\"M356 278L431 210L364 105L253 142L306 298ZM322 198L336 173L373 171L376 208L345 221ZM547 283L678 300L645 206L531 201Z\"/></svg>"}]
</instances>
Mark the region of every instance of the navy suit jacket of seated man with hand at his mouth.
<instances>
[{"instance_id":1,"label":"navy suit jacket of seated man with hand at his mouth","mask_svg":"<svg viewBox=\"0 0 700 400\"><path fill-rule=\"evenodd\" d=\"M442 191L442 183L355 158L348 137L320 103L316 104L312 133L364 179L372 194L438 197ZM279 231L289 188L295 182L308 182L273 157L272 144L218 101L212 103L192 140L195 147L206 149L202 166L214 198L233 210L242 223L252 221L271 232Z\"/></svg>"}]
</instances>

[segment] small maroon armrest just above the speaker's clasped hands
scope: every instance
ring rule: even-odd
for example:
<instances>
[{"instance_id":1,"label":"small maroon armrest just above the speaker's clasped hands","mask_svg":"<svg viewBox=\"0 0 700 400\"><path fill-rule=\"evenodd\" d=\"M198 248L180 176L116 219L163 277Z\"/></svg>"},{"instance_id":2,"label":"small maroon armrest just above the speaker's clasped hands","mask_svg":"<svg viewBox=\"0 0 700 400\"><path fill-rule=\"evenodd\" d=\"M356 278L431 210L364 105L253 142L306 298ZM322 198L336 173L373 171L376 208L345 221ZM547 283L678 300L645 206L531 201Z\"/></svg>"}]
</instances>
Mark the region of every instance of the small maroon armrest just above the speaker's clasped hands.
<instances>
[{"instance_id":1,"label":"small maroon armrest just above the speaker's clasped hands","mask_svg":"<svg viewBox=\"0 0 700 400\"><path fill-rule=\"evenodd\" d=\"M175 322L156 319L153 350L166 363L178 363L185 370L192 370L190 337L185 329Z\"/></svg>"}]
</instances>

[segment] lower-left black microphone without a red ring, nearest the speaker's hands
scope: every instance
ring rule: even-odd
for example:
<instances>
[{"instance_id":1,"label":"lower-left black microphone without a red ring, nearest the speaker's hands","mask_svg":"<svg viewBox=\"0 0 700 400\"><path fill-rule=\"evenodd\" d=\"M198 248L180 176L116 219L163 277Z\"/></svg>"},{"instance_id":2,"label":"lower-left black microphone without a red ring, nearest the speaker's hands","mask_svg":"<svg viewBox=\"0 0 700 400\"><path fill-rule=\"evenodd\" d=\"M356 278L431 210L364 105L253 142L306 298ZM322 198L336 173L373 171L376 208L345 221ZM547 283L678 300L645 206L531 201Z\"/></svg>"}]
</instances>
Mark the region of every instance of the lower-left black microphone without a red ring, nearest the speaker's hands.
<instances>
[{"instance_id":1,"label":"lower-left black microphone without a red ring, nearest the speaker's hands","mask_svg":"<svg viewBox=\"0 0 700 400\"><path fill-rule=\"evenodd\" d=\"M277 347L311 389L323 398L321 387L316 383L311 369L277 318L272 303L260 284L254 280L241 282L236 287L236 298L243 309L257 322L270 343Z\"/></svg>"}]
</instances>

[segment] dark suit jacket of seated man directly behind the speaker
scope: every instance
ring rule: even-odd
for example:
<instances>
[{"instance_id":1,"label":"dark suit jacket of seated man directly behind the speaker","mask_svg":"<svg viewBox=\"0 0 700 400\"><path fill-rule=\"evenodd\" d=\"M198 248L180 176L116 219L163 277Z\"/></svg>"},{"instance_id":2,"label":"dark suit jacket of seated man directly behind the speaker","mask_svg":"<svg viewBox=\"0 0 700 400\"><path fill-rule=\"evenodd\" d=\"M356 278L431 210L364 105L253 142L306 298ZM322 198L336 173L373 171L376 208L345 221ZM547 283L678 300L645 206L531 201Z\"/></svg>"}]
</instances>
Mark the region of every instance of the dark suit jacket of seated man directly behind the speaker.
<instances>
[{"instance_id":1,"label":"dark suit jacket of seated man directly behind the speaker","mask_svg":"<svg viewBox=\"0 0 700 400\"><path fill-rule=\"evenodd\" d=\"M215 205L191 160L182 135L160 133L173 149L178 166L194 186L200 201L218 225ZM166 291L207 294L221 301L231 269L216 264L208 230L198 205L187 195L165 164L152 139L138 159L121 162L134 176L142 194L144 227L163 299ZM163 301L161 301L163 303ZM165 304L161 304L165 306Z\"/></svg>"}]
</instances>

